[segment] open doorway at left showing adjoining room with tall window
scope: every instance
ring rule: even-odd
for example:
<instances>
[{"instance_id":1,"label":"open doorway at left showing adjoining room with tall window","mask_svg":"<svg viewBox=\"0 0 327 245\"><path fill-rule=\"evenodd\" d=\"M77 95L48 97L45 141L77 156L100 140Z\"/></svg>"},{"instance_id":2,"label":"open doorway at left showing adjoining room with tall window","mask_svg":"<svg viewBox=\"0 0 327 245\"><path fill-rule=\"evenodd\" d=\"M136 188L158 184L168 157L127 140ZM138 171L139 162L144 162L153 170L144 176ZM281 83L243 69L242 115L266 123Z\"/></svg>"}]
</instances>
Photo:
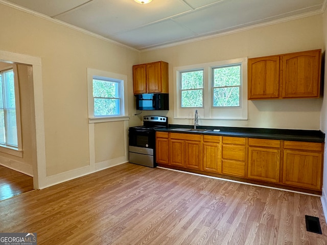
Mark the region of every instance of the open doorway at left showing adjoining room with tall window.
<instances>
[{"instance_id":1,"label":"open doorway at left showing adjoining room with tall window","mask_svg":"<svg viewBox=\"0 0 327 245\"><path fill-rule=\"evenodd\" d=\"M12 81L0 77L1 201L34 189L33 169L37 162L32 65L1 61L0 71L1 74L12 71L14 77ZM14 102L8 103L8 98ZM11 111L16 112L16 117L10 114Z\"/></svg>"}]
</instances>

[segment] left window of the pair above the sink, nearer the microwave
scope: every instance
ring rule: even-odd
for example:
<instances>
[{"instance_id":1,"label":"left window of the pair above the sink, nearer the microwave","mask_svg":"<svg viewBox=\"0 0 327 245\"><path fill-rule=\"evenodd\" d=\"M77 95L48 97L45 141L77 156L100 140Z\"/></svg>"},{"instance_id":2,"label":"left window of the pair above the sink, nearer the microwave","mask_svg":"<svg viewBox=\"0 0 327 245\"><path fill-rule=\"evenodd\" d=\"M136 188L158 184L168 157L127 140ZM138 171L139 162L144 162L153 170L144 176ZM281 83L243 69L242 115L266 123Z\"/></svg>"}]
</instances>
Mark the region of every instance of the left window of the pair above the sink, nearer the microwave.
<instances>
[{"instance_id":1,"label":"left window of the pair above the sink, nearer the microwave","mask_svg":"<svg viewBox=\"0 0 327 245\"><path fill-rule=\"evenodd\" d=\"M203 70L180 72L181 107L203 106Z\"/></svg>"}]
</instances>

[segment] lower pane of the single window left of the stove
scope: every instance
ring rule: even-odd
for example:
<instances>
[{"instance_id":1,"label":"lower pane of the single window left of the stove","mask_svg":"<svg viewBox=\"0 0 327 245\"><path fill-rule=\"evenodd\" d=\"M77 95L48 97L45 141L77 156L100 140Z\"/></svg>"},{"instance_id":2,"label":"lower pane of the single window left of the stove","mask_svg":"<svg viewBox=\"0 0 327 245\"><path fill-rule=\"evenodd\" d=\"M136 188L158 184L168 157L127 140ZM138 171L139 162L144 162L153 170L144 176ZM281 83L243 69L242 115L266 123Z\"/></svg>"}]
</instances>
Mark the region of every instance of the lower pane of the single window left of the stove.
<instances>
[{"instance_id":1,"label":"lower pane of the single window left of the stove","mask_svg":"<svg viewBox=\"0 0 327 245\"><path fill-rule=\"evenodd\" d=\"M119 115L119 99L94 99L94 115Z\"/></svg>"}]
</instances>

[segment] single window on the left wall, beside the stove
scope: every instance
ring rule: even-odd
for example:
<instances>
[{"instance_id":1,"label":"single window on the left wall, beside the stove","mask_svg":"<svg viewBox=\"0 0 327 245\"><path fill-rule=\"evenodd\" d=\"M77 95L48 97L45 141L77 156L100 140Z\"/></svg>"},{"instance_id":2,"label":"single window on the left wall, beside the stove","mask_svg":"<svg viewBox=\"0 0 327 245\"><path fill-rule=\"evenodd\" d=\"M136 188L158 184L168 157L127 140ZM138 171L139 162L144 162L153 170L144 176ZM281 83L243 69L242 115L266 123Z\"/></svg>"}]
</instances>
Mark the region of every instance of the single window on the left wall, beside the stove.
<instances>
[{"instance_id":1,"label":"single window on the left wall, beside the stove","mask_svg":"<svg viewBox=\"0 0 327 245\"><path fill-rule=\"evenodd\" d=\"M94 116L120 115L121 84L118 79L93 77Z\"/></svg>"}]
</instances>

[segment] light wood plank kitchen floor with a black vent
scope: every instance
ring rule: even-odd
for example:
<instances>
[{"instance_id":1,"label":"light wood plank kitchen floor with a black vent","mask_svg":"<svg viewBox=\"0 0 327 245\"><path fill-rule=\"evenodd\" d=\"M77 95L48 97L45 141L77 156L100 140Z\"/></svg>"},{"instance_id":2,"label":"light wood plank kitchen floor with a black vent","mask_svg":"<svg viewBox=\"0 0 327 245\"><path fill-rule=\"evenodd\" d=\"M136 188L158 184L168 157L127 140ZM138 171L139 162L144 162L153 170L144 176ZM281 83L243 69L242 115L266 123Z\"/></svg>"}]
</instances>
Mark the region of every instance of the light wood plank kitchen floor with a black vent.
<instances>
[{"instance_id":1,"label":"light wood plank kitchen floor with a black vent","mask_svg":"<svg viewBox=\"0 0 327 245\"><path fill-rule=\"evenodd\" d=\"M0 232L37 232L38 245L327 244L319 197L130 163L1 201Z\"/></svg>"}]
</instances>

